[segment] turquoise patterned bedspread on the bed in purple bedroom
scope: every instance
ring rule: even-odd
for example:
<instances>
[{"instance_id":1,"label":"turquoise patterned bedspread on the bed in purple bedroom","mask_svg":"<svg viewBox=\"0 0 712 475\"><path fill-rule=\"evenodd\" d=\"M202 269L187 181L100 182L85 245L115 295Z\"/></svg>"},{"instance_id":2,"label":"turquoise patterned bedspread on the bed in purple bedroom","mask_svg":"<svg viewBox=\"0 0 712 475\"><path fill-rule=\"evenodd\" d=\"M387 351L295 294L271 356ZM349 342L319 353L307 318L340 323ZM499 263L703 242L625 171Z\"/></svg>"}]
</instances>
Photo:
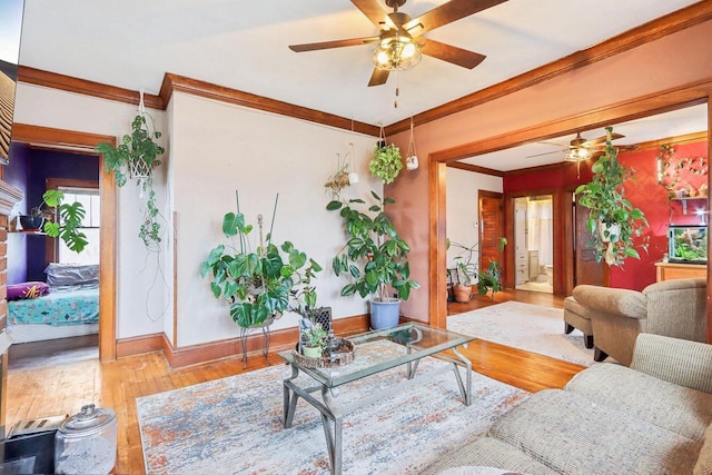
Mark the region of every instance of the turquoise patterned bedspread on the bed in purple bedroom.
<instances>
[{"instance_id":1,"label":"turquoise patterned bedspread on the bed in purple bedroom","mask_svg":"<svg viewBox=\"0 0 712 475\"><path fill-rule=\"evenodd\" d=\"M98 286L52 287L40 298L8 301L9 325L99 323Z\"/></svg>"}]
</instances>

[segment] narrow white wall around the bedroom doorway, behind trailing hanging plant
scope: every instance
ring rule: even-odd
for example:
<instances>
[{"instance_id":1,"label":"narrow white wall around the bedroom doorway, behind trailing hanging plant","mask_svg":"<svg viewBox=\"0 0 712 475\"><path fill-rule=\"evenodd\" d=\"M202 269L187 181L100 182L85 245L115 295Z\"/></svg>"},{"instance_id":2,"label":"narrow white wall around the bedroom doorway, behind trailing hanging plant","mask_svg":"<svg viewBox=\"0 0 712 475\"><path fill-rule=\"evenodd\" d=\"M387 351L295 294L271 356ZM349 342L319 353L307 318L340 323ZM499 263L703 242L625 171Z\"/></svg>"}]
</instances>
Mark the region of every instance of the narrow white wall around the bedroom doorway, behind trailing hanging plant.
<instances>
[{"instance_id":1,"label":"narrow white wall around the bedroom doorway, behind trailing hanging plant","mask_svg":"<svg viewBox=\"0 0 712 475\"><path fill-rule=\"evenodd\" d=\"M14 122L120 137L130 132L135 106L18 83ZM165 112L151 110L156 127L164 130ZM160 142L166 144L166 136ZM169 151L164 156L168 159ZM155 179L158 206L166 210L165 171ZM141 212L138 189L127 184L118 190L117 222L117 338L162 331L169 314L171 289L160 275L159 259L148 255L138 237ZM164 240L164 244L166 240ZM169 277L168 277L169 278ZM170 280L168 280L170 281ZM166 285L165 285L166 284Z\"/></svg>"}]
</instances>

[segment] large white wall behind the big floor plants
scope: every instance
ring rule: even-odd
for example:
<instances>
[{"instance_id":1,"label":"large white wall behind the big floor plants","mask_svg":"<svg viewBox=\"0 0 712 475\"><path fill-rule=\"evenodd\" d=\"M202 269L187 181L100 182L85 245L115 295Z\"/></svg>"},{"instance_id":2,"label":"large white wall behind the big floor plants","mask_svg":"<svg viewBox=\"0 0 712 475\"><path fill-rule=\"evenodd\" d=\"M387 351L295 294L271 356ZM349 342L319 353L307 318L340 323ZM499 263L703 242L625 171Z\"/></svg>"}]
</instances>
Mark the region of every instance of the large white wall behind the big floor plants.
<instances>
[{"instance_id":1,"label":"large white wall behind the big floor plants","mask_svg":"<svg viewBox=\"0 0 712 475\"><path fill-rule=\"evenodd\" d=\"M220 228L225 212L236 209L236 189L248 222L256 225L257 215L264 215L265 235L279 192L274 241L293 241L324 267L316 283L318 300L333 307L334 318L366 314L364 299L339 296L345 280L330 269L345 240L338 214L326 210L332 196L324 184L337 171L336 155L344 157L353 142L360 181L342 196L382 194L383 184L368 174L375 139L181 92L174 92L170 106L178 346L239 335L227 304L212 297L209 280L199 275L208 253L227 243ZM253 235L258 238L257 231ZM287 315L273 328L296 324L297 316Z\"/></svg>"}]
</instances>

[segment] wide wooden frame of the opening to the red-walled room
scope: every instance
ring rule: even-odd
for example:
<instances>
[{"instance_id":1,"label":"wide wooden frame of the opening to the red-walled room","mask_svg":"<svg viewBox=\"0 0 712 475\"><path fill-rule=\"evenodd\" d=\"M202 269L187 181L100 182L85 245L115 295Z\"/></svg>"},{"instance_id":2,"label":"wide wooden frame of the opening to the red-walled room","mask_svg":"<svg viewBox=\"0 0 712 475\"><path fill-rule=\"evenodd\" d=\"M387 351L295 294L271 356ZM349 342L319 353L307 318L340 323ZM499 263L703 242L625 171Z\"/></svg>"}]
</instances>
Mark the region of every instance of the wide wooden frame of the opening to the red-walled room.
<instances>
[{"instance_id":1,"label":"wide wooden frame of the opening to the red-walled room","mask_svg":"<svg viewBox=\"0 0 712 475\"><path fill-rule=\"evenodd\" d=\"M463 158L503 150L530 141L546 140L562 135L605 127L611 123L624 122L669 112L689 106L706 102L708 105L708 137L712 137L712 79L684 85L678 88L660 91L643 97L632 98L615 105L601 107L571 116L552 120L533 127L514 130L496 137L487 137L469 144L437 150L428 155L428 201L429 206L429 239L428 239L428 314L429 324L437 328L447 325L447 298L443 291L446 283L446 167L447 162ZM712 156L712 141L708 140L709 155ZM712 188L712 174L709 174ZM710 244L712 246L712 243ZM708 266L708 281L712 278L712 266ZM708 286L708 300L712 299L712 287ZM708 342L712 342L712 305L708 305Z\"/></svg>"}]
</instances>

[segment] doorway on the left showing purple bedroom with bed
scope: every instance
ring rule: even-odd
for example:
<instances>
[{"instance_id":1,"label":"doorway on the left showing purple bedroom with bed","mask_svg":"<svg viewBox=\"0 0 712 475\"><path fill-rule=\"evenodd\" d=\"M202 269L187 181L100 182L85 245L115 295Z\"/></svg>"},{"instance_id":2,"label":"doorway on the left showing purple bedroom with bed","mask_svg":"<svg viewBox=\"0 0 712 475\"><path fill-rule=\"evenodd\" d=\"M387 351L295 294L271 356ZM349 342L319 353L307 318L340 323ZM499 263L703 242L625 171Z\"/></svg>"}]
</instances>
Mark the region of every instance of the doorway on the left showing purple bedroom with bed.
<instances>
[{"instance_id":1,"label":"doorway on the left showing purple bedroom with bed","mask_svg":"<svg viewBox=\"0 0 712 475\"><path fill-rule=\"evenodd\" d=\"M66 360L98 359L100 195L99 157L43 147L12 145L13 160L6 166L6 181L21 189L24 205L10 216L8 284L42 283L39 298L8 301L10 369L51 366ZM63 194L62 211L42 204L47 190ZM77 206L81 208L77 208ZM62 224L78 220L86 243L81 253L60 238L29 230L19 215L30 209Z\"/></svg>"}]
</instances>

